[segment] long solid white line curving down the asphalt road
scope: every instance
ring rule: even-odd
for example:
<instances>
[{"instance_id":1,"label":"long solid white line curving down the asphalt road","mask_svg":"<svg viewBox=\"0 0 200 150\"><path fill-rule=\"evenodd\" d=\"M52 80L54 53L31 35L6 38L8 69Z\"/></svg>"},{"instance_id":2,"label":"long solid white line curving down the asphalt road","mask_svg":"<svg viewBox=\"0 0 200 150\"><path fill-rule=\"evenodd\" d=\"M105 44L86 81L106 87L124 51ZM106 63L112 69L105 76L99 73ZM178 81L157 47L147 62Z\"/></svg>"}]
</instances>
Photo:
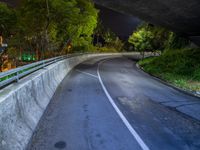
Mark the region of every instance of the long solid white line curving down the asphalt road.
<instances>
[{"instance_id":1,"label":"long solid white line curving down the asphalt road","mask_svg":"<svg viewBox=\"0 0 200 150\"><path fill-rule=\"evenodd\" d=\"M101 76L100 76L100 73L99 73L99 68L100 68L100 65L105 62L107 60L104 60L102 62L100 62L98 64L98 68L97 68L97 75L98 75L98 78L99 78L99 82L101 83L101 86L107 96L107 98L109 99L110 103L112 104L112 106L114 107L115 111L117 112L117 114L119 115L119 117L122 119L123 123L126 125L126 127L128 128L128 130L131 132L131 134L133 135L133 137L136 139L136 141L138 142L138 144L140 145L140 147L143 149L143 150L150 150L148 148L148 146L144 143L144 141L140 138L140 136L138 135L138 133L133 129L133 127L130 125L130 123L128 122L128 120L126 119L126 117L123 115L123 113L120 111L120 109L117 107L117 105L115 104L114 100L112 99L112 97L110 96L110 94L108 93L108 90L106 89L102 79L101 79Z\"/></svg>"}]
</instances>

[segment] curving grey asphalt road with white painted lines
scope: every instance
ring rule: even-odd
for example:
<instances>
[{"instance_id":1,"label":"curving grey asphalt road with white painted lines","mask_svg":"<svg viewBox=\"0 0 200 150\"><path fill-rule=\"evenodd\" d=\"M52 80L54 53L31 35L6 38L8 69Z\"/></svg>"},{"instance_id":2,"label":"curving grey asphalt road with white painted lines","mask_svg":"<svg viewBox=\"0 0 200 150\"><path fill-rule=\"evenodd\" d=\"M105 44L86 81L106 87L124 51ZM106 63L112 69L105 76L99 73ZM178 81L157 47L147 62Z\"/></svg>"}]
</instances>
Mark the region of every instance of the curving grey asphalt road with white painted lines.
<instances>
[{"instance_id":1,"label":"curving grey asphalt road with white painted lines","mask_svg":"<svg viewBox=\"0 0 200 150\"><path fill-rule=\"evenodd\" d=\"M29 150L199 150L200 99L168 87L130 58L98 57L57 89Z\"/></svg>"}]
</instances>

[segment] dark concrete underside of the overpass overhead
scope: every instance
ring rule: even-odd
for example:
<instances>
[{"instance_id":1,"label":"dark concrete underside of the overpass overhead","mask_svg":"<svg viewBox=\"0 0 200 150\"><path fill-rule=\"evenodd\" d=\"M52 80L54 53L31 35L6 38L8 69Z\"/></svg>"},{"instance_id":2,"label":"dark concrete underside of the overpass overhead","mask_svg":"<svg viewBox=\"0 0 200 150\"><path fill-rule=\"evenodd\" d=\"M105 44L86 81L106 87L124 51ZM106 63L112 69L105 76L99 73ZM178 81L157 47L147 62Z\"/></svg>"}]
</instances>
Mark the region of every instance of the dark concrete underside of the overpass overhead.
<instances>
[{"instance_id":1,"label":"dark concrete underside of the overpass overhead","mask_svg":"<svg viewBox=\"0 0 200 150\"><path fill-rule=\"evenodd\" d=\"M98 5L137 16L191 37L200 44L199 0L94 0Z\"/></svg>"}]
</instances>

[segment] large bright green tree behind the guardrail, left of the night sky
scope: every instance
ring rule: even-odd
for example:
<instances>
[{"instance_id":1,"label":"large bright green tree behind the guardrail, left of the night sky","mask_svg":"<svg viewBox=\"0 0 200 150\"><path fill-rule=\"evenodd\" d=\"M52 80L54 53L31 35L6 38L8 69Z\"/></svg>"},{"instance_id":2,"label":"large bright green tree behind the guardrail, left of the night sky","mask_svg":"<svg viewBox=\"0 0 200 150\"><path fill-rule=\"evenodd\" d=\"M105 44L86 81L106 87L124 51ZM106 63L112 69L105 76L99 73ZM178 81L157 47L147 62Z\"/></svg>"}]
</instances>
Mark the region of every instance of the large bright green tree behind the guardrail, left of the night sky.
<instances>
[{"instance_id":1,"label":"large bright green tree behind the guardrail, left of the night sky","mask_svg":"<svg viewBox=\"0 0 200 150\"><path fill-rule=\"evenodd\" d=\"M88 48L97 16L89 0L24 0L20 26L26 45L32 49L62 50L69 41L74 47Z\"/></svg>"}]
</instances>

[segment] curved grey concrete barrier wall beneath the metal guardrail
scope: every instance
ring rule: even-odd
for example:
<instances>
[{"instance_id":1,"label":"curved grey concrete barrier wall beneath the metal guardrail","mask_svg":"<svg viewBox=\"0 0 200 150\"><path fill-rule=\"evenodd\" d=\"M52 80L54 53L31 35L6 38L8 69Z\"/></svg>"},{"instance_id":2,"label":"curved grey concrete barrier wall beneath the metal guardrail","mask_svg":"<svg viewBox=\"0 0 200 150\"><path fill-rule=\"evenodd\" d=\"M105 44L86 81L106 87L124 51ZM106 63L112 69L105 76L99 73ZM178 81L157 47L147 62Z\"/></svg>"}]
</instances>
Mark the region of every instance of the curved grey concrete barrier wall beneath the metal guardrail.
<instances>
[{"instance_id":1,"label":"curved grey concrete barrier wall beneath the metal guardrail","mask_svg":"<svg viewBox=\"0 0 200 150\"><path fill-rule=\"evenodd\" d=\"M0 150L26 148L58 85L77 64L99 55L68 58L0 91Z\"/></svg>"}]
</instances>

